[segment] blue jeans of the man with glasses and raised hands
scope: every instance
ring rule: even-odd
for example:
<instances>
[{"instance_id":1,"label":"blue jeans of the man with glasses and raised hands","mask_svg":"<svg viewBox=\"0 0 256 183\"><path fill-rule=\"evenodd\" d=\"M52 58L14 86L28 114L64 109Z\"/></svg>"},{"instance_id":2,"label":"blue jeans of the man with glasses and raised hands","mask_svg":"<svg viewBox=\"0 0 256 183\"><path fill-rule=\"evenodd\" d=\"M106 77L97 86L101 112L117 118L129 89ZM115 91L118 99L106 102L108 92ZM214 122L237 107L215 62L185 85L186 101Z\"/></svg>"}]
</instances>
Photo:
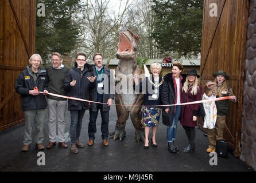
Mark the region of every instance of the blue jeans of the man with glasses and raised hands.
<instances>
[{"instance_id":1,"label":"blue jeans of the man with glasses and raised hands","mask_svg":"<svg viewBox=\"0 0 256 183\"><path fill-rule=\"evenodd\" d=\"M79 141L80 132L82 129L82 122L84 113L86 110L71 110L71 124L70 124L70 139L71 144L76 144L76 141Z\"/></svg>"}]
</instances>

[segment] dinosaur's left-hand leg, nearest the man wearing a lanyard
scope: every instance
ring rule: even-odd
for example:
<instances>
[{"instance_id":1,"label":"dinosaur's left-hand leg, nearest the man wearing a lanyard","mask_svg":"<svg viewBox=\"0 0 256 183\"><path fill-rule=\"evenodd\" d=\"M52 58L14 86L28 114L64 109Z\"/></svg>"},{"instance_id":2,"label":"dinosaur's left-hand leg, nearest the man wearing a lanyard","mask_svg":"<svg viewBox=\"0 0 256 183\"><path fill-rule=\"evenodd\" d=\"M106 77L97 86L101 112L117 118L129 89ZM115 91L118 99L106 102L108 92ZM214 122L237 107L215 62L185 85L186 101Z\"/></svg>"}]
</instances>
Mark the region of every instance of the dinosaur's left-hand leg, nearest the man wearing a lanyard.
<instances>
[{"instance_id":1,"label":"dinosaur's left-hand leg, nearest the man wearing a lanyard","mask_svg":"<svg viewBox=\"0 0 256 183\"><path fill-rule=\"evenodd\" d=\"M129 117L129 112L123 106L116 106L116 109L117 109L117 117L118 117L117 124L115 125L114 132L111 132L109 135L114 136L113 137L114 140L116 140L117 138L122 140L122 138L125 137L125 134L126 134L125 125Z\"/></svg>"}]
</instances>

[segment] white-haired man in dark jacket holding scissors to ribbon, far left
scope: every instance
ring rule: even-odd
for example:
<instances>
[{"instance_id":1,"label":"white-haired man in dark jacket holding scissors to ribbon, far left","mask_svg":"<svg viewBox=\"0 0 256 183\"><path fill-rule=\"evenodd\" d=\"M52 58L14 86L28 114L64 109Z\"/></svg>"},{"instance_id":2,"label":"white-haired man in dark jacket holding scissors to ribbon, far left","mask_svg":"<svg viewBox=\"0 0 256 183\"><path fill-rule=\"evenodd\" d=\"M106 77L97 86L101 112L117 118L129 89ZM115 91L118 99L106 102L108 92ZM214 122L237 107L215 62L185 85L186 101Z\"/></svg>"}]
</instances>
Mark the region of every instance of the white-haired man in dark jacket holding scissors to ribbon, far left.
<instances>
[{"instance_id":1,"label":"white-haired man in dark jacket holding scissors to ribbon, far left","mask_svg":"<svg viewBox=\"0 0 256 183\"><path fill-rule=\"evenodd\" d=\"M38 150L43 150L44 145L44 113L46 109L45 96L48 92L46 70L39 66L42 58L39 54L33 54L29 59L30 65L18 76L15 82L15 90L21 95L21 110L25 116L25 133L22 152L29 150L32 143L32 125L36 124L36 145ZM39 92L44 92L40 94Z\"/></svg>"}]
</instances>

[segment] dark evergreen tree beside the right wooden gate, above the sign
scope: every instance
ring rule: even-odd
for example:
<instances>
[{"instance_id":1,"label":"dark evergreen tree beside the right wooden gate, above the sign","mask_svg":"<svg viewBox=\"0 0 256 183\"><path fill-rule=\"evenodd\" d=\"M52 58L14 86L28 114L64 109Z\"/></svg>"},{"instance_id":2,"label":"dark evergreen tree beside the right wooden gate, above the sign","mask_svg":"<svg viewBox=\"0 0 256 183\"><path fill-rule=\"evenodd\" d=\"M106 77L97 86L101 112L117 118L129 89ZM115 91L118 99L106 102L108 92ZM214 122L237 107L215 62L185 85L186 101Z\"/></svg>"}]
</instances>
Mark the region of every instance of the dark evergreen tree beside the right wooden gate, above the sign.
<instances>
[{"instance_id":1,"label":"dark evergreen tree beside the right wooden gate, above the sign","mask_svg":"<svg viewBox=\"0 0 256 183\"><path fill-rule=\"evenodd\" d=\"M162 53L191 57L201 51L203 1L153 0L156 13L152 37Z\"/></svg>"}]
</instances>

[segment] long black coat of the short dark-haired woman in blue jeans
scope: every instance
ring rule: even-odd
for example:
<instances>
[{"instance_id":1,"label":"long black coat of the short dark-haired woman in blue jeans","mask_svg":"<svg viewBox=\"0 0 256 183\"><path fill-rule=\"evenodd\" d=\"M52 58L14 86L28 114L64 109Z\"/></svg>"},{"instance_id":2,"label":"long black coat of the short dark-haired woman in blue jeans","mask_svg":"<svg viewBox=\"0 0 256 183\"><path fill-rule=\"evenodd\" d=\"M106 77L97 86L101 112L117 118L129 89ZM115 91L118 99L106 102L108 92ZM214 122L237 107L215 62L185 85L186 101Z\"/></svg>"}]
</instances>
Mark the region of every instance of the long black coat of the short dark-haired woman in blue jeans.
<instances>
[{"instance_id":1,"label":"long black coat of the short dark-haired woman in blue jeans","mask_svg":"<svg viewBox=\"0 0 256 183\"><path fill-rule=\"evenodd\" d=\"M181 77L183 79L181 80L182 86L184 85L184 82L186 81L186 75L181 74ZM182 87L180 86L180 87ZM161 100L162 105L170 105L175 104L175 89L174 89L174 83L172 79L172 73L166 74L164 76L164 83L162 83L162 93L161 93ZM170 111L167 114L165 112L165 109L169 108ZM163 106L162 107L162 123L166 126L171 126L174 116L174 108L175 106Z\"/></svg>"}]
</instances>

